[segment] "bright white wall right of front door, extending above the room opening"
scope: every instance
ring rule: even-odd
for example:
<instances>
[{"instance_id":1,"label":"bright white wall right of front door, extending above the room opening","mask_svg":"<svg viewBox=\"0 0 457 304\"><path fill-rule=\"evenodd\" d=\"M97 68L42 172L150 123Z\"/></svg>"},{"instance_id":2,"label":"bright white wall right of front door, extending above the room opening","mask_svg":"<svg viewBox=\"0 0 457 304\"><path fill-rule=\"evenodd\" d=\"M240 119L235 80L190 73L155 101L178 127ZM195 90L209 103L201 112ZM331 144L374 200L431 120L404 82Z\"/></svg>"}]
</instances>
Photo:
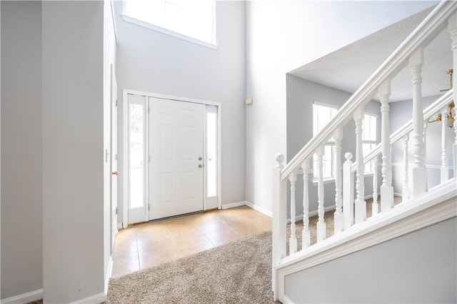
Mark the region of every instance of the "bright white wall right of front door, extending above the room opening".
<instances>
[{"instance_id":1,"label":"bright white wall right of front door, extending above the room opening","mask_svg":"<svg viewBox=\"0 0 457 304\"><path fill-rule=\"evenodd\" d=\"M246 200L271 211L271 171L286 155L286 73L422 11L426 1L246 2Z\"/></svg>"}]
</instances>

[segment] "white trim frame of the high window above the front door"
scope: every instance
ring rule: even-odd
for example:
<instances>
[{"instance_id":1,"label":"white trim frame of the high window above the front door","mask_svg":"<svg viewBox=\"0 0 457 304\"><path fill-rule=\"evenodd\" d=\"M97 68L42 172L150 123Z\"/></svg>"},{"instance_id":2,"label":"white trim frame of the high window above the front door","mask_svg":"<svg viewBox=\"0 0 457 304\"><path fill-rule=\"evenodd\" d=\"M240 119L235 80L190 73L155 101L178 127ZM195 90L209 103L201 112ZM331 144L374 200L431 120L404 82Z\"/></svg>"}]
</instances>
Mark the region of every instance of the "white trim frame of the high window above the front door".
<instances>
[{"instance_id":1,"label":"white trim frame of the high window above the front door","mask_svg":"<svg viewBox=\"0 0 457 304\"><path fill-rule=\"evenodd\" d=\"M166 34L166 35L169 35L169 36L173 36L175 38L178 38L178 39L181 39L181 40L184 40L184 41L189 41L193 44L198 44L200 46L205 46L209 49L218 49L218 45L217 45L217 37L216 37L216 1L213 0L214 2L214 5L213 5L213 24L212 24L212 42L208 42L208 41L203 41L203 40L200 40L200 39L196 39L194 37L191 37L191 36L188 36L186 34L181 34L177 31L173 31L171 29L166 29L164 27L161 27L161 26L158 26L156 24L151 24L147 21L143 21L143 20L140 20L140 19L136 19L135 17L133 16L129 16L126 14L126 1L122 1L122 19L124 19L124 21L126 22L129 22L131 24L135 24L137 26L142 26L146 29L151 29L153 31L157 31L161 34Z\"/></svg>"}]
</instances>

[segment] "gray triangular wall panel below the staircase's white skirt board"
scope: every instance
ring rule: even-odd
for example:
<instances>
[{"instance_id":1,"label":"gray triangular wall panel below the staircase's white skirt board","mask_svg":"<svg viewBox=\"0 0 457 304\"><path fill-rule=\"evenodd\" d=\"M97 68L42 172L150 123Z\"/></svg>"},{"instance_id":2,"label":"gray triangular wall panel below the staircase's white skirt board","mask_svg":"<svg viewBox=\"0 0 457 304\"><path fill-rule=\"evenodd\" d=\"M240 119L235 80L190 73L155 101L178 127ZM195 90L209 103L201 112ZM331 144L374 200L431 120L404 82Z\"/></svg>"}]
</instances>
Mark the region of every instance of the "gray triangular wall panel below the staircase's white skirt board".
<instances>
[{"instance_id":1,"label":"gray triangular wall panel below the staircase's white skirt board","mask_svg":"<svg viewBox=\"0 0 457 304\"><path fill-rule=\"evenodd\" d=\"M286 276L293 303L456 303L456 218Z\"/></svg>"}]
</instances>

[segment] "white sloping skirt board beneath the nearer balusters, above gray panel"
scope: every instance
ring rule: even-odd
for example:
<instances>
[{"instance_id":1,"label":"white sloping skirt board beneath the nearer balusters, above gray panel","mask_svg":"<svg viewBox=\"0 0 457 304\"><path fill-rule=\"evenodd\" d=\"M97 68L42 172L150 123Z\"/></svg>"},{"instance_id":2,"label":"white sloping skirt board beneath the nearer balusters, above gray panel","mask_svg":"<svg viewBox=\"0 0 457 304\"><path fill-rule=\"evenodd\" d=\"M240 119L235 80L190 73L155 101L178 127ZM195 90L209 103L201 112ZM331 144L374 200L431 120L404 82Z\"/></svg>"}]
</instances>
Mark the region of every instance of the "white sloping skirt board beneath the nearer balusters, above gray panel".
<instances>
[{"instance_id":1,"label":"white sloping skirt board beneath the nearer balusters, above gray panel","mask_svg":"<svg viewBox=\"0 0 457 304\"><path fill-rule=\"evenodd\" d=\"M379 213L347 231L283 258L280 265L273 266L278 283L278 300L287 303L284 295L286 275L456 217L456 188L457 180L453 178L432 192L401 203L391 211Z\"/></svg>"}]
</instances>

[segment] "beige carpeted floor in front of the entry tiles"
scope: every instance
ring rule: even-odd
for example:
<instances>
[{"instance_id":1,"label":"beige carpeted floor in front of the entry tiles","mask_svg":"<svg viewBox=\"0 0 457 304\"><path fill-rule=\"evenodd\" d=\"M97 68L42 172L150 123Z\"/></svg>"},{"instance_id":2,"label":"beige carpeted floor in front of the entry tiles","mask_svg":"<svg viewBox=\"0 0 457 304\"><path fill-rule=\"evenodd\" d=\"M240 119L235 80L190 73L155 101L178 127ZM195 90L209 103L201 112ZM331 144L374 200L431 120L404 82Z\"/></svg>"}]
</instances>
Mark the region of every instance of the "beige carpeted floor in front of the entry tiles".
<instances>
[{"instance_id":1,"label":"beige carpeted floor in front of the entry tiles","mask_svg":"<svg viewBox=\"0 0 457 304\"><path fill-rule=\"evenodd\" d=\"M112 278L106 303L273 303L271 232Z\"/></svg>"}]
</instances>

